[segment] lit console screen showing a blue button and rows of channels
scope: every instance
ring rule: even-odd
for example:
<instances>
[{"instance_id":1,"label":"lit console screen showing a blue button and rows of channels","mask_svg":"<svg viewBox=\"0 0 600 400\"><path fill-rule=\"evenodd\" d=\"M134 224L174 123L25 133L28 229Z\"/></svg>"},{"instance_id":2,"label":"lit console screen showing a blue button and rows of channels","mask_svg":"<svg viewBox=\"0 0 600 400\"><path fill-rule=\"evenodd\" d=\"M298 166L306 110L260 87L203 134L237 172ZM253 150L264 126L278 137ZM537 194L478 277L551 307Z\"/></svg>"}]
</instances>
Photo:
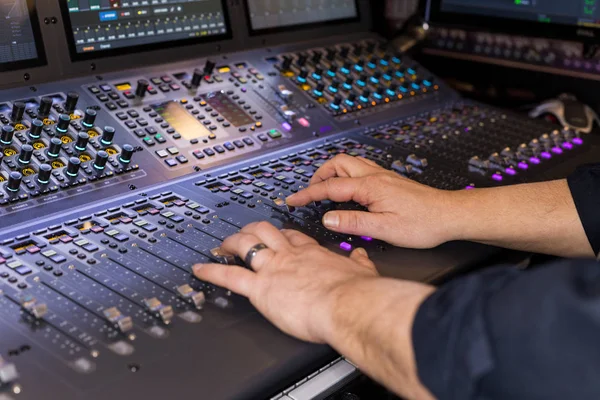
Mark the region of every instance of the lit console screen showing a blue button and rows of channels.
<instances>
[{"instance_id":1,"label":"lit console screen showing a blue button and rows of channels","mask_svg":"<svg viewBox=\"0 0 600 400\"><path fill-rule=\"evenodd\" d=\"M229 37L224 3L224 0L61 2L75 60Z\"/></svg>"}]
</instances>

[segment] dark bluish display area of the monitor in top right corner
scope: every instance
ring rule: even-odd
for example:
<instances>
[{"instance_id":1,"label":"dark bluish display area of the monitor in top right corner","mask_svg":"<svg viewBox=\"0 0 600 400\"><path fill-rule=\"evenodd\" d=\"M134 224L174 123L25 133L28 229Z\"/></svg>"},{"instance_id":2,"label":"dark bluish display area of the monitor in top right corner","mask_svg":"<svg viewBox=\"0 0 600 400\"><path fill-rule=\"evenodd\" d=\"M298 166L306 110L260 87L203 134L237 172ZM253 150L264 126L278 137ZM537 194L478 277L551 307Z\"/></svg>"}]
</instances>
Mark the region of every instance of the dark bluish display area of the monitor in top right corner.
<instances>
[{"instance_id":1,"label":"dark bluish display area of the monitor in top right corner","mask_svg":"<svg viewBox=\"0 0 600 400\"><path fill-rule=\"evenodd\" d=\"M600 27L595 0L442 0L442 12Z\"/></svg>"}]
</instances>

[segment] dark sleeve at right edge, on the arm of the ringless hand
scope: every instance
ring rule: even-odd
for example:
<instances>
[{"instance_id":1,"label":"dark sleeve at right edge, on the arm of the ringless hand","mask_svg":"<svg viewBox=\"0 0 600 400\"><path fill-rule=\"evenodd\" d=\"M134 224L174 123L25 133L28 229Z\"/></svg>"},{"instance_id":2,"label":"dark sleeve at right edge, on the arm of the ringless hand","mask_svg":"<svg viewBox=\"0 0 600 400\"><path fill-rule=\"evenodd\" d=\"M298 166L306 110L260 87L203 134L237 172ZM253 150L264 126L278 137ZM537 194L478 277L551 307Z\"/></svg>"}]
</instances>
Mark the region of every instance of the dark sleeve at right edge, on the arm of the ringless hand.
<instances>
[{"instance_id":1,"label":"dark sleeve at right edge, on the arm of the ringless hand","mask_svg":"<svg viewBox=\"0 0 600 400\"><path fill-rule=\"evenodd\" d=\"M585 233L600 253L600 164L578 168L568 179L569 188Z\"/></svg>"}]
</instances>

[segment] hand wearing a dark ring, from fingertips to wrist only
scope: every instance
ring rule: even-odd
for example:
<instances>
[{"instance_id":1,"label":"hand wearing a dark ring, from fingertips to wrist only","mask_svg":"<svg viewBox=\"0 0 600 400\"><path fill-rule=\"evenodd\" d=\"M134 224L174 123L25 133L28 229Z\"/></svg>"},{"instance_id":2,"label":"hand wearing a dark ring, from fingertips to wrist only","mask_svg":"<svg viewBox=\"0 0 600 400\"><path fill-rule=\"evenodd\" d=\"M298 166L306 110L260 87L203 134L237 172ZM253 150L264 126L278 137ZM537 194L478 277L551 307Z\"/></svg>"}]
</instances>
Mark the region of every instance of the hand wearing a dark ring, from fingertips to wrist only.
<instances>
[{"instance_id":1,"label":"hand wearing a dark ring, from fingertips to wrist only","mask_svg":"<svg viewBox=\"0 0 600 400\"><path fill-rule=\"evenodd\" d=\"M226 239L221 249L244 259L260 243L268 248L252 260L254 271L204 264L194 266L194 274L248 297L278 328L305 341L326 343L338 293L358 280L377 277L363 249L356 249L350 258L343 257L300 232L279 231L268 222L244 227Z\"/></svg>"}]
</instances>

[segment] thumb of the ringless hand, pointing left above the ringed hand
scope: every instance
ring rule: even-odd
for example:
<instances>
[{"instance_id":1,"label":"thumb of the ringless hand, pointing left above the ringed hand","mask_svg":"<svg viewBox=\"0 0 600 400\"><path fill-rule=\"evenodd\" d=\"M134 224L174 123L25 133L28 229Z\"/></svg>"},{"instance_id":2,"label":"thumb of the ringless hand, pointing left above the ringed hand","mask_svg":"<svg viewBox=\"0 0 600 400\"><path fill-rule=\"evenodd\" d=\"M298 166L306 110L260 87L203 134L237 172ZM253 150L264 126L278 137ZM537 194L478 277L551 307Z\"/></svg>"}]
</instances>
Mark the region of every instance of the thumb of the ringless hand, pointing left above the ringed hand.
<instances>
[{"instance_id":1,"label":"thumb of the ringless hand, pointing left above the ringed hand","mask_svg":"<svg viewBox=\"0 0 600 400\"><path fill-rule=\"evenodd\" d=\"M335 232L381 238L386 217L365 211L331 211L323 216L323 225Z\"/></svg>"}]
</instances>

